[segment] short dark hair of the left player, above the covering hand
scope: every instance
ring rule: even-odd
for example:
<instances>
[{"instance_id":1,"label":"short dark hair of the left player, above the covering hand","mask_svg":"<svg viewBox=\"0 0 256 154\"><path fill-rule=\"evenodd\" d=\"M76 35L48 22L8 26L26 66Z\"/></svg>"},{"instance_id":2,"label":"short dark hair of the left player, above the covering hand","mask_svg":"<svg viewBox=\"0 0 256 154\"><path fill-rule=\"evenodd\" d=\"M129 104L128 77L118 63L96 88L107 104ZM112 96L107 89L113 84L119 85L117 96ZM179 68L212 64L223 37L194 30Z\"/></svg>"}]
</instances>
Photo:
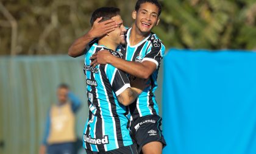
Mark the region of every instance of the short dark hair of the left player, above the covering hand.
<instances>
[{"instance_id":1,"label":"short dark hair of the left player, above the covering hand","mask_svg":"<svg viewBox=\"0 0 256 154\"><path fill-rule=\"evenodd\" d=\"M114 16L117 16L120 14L120 9L116 7L100 7L99 9L96 9L93 14L91 15L91 26L93 26L93 22L97 19L102 17L101 21L106 21L108 19L111 19Z\"/></svg>"}]
</instances>

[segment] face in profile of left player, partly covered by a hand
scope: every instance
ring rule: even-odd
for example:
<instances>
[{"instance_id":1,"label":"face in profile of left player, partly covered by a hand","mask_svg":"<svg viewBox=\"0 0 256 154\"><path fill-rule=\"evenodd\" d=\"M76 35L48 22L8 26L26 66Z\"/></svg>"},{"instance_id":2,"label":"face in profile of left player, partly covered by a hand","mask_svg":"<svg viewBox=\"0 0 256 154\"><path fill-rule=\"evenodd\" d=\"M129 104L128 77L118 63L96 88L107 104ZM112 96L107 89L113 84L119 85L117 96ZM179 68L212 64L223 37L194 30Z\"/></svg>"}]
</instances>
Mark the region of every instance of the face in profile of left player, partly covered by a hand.
<instances>
[{"instance_id":1,"label":"face in profile of left player, partly covered by a hand","mask_svg":"<svg viewBox=\"0 0 256 154\"><path fill-rule=\"evenodd\" d=\"M110 36L116 44L124 43L124 33L126 32L126 28L123 25L123 20L120 15L114 16L112 19L115 19L118 27L116 27L116 29L112 32L108 33L108 36Z\"/></svg>"}]
</instances>

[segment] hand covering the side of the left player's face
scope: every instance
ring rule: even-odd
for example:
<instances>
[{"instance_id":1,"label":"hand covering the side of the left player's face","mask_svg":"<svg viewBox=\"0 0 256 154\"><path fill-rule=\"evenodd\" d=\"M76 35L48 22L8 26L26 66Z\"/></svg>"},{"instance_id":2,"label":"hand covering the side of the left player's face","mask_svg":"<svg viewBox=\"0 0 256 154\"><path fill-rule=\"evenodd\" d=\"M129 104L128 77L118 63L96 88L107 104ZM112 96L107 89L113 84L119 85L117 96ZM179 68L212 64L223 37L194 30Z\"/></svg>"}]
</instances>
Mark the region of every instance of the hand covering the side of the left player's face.
<instances>
[{"instance_id":1,"label":"hand covering the side of the left player's face","mask_svg":"<svg viewBox=\"0 0 256 154\"><path fill-rule=\"evenodd\" d=\"M90 35L91 38L102 37L106 33L112 32L113 30L115 30L116 27L118 27L114 19L108 19L107 21L102 21L101 23L99 23L101 19L102 17L97 18L94 21L93 26L89 30L88 35Z\"/></svg>"}]
</instances>

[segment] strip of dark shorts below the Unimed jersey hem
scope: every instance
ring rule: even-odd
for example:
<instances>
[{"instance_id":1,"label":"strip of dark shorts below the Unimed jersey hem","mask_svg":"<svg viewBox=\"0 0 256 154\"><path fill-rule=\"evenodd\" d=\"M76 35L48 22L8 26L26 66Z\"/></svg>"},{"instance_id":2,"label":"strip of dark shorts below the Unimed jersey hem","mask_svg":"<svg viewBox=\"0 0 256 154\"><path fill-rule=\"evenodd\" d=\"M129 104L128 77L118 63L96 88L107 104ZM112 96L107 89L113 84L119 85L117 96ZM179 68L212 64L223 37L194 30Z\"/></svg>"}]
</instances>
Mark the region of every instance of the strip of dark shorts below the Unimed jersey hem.
<instances>
[{"instance_id":1,"label":"strip of dark shorts below the Unimed jersey hem","mask_svg":"<svg viewBox=\"0 0 256 154\"><path fill-rule=\"evenodd\" d=\"M132 145L128 145L125 147L120 147L118 149L115 150L110 150L107 152L92 152L90 150L85 149L87 154L138 154L137 152L137 145L136 144L132 144Z\"/></svg>"}]
</instances>

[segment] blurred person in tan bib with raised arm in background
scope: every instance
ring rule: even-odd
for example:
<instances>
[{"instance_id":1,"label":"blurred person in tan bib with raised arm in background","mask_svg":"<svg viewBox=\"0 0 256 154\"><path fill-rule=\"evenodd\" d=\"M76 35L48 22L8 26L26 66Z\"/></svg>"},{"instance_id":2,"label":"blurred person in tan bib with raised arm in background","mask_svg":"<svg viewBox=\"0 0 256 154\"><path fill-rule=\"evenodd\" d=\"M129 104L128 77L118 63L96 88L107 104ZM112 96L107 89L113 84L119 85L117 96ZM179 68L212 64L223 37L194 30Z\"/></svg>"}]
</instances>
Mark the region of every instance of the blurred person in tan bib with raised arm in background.
<instances>
[{"instance_id":1,"label":"blurred person in tan bib with raised arm in background","mask_svg":"<svg viewBox=\"0 0 256 154\"><path fill-rule=\"evenodd\" d=\"M46 128L39 154L74 154L75 113L81 102L69 91L69 86L62 83L57 88L58 102L49 109Z\"/></svg>"}]
</instances>

